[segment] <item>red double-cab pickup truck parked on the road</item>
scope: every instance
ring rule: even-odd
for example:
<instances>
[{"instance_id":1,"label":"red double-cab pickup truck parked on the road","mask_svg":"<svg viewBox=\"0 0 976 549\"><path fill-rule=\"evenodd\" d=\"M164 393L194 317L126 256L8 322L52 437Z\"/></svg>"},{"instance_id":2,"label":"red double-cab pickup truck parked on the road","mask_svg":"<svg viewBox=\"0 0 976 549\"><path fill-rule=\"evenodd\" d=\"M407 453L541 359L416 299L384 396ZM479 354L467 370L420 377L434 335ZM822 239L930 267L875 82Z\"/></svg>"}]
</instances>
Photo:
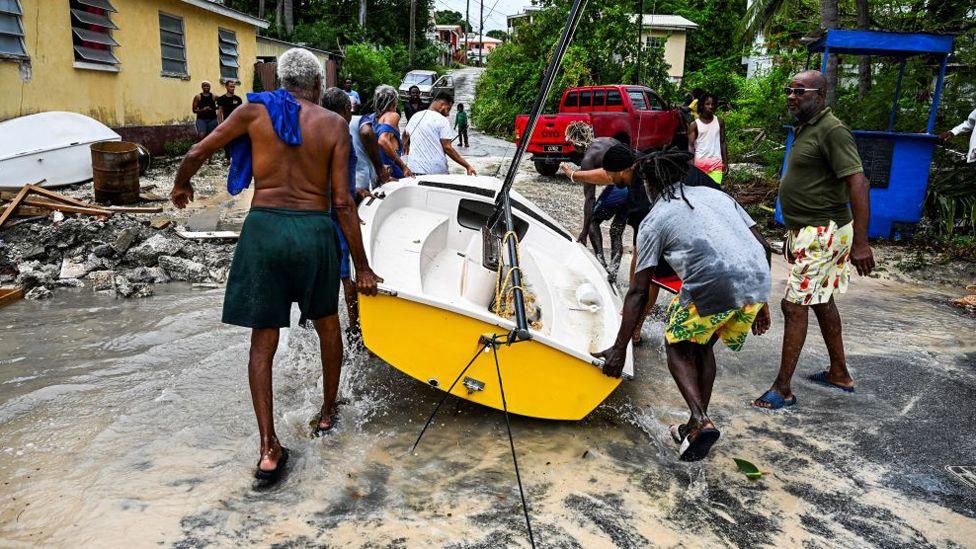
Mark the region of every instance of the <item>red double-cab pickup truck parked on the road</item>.
<instances>
[{"instance_id":1,"label":"red double-cab pickup truck parked on the road","mask_svg":"<svg viewBox=\"0 0 976 549\"><path fill-rule=\"evenodd\" d=\"M582 120L597 137L614 137L646 151L669 145L684 133L681 113L654 90L644 86L585 86L563 92L559 112L539 117L527 152L542 175L555 175L559 163L570 160L573 146L566 141L566 126ZM529 116L515 118L515 139L520 142Z\"/></svg>"}]
</instances>

